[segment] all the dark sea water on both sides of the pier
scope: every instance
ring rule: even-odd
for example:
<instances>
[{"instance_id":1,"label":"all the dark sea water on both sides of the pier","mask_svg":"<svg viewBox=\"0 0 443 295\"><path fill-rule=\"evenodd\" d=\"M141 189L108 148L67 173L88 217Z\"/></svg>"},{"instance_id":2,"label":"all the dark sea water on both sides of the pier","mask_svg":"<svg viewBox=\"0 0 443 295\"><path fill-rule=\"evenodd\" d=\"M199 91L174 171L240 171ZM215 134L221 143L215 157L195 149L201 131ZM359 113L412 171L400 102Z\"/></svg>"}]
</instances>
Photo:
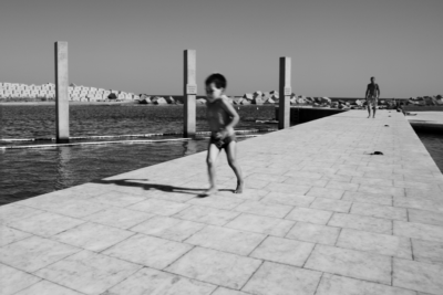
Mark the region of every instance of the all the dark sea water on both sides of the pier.
<instances>
[{"instance_id":1,"label":"all the dark sea water on both sides of the pier","mask_svg":"<svg viewBox=\"0 0 443 295\"><path fill-rule=\"evenodd\" d=\"M54 137L54 106L0 106L1 138ZM240 106L236 129L276 128L274 106ZM71 136L181 133L181 106L70 106ZM197 130L208 130L205 107L197 107ZM415 129L443 171L443 135ZM161 139L150 138L150 139ZM244 138L239 138L243 140ZM115 140L115 139L110 139ZM48 141L42 141L44 144ZM37 144L37 143L33 143ZM6 145L6 144L0 144ZM11 144L8 144L11 145ZM0 204L69 188L205 150L207 139L45 149L0 150Z\"/></svg>"}]
</instances>

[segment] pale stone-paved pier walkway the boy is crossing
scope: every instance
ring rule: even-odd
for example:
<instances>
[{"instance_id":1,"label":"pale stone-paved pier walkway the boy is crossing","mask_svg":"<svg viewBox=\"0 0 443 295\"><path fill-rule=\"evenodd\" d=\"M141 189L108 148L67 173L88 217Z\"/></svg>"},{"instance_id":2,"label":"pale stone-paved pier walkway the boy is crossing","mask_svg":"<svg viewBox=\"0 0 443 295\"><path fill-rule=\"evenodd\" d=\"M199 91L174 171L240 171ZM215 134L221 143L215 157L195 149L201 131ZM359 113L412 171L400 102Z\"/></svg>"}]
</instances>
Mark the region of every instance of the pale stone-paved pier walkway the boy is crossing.
<instances>
[{"instance_id":1,"label":"pale stone-paved pier walkway the boy is crossing","mask_svg":"<svg viewBox=\"0 0 443 295\"><path fill-rule=\"evenodd\" d=\"M1 294L443 294L443 176L403 115L351 110L3 206ZM382 151L383 156L370 155Z\"/></svg>"}]
</instances>

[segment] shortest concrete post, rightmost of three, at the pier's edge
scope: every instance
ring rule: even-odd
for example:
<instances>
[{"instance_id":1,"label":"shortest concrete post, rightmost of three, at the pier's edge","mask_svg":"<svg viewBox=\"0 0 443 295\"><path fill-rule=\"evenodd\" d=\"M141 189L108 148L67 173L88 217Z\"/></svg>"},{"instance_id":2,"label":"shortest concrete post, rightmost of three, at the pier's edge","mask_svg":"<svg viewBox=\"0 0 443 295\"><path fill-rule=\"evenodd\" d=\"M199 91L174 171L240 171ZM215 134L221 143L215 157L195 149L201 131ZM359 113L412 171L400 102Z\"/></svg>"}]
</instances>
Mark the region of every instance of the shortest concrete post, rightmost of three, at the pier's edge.
<instances>
[{"instance_id":1,"label":"shortest concrete post, rightmost of three, at the pier's edge","mask_svg":"<svg viewBox=\"0 0 443 295\"><path fill-rule=\"evenodd\" d=\"M285 129L290 127L290 95L291 95L291 59L280 57L280 83L279 83L279 109L278 109L278 128Z\"/></svg>"}]
</instances>

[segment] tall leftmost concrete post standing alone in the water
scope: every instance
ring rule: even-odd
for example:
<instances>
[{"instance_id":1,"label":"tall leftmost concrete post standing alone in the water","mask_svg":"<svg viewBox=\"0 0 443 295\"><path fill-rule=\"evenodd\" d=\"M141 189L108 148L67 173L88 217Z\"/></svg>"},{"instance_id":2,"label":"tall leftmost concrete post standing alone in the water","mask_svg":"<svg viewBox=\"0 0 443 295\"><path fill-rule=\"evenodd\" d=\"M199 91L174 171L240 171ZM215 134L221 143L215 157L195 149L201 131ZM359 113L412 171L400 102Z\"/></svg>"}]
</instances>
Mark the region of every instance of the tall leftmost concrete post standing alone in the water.
<instances>
[{"instance_id":1,"label":"tall leftmost concrete post standing alone in the water","mask_svg":"<svg viewBox=\"0 0 443 295\"><path fill-rule=\"evenodd\" d=\"M56 143L69 141L68 42L55 42L55 125Z\"/></svg>"}]
</instances>

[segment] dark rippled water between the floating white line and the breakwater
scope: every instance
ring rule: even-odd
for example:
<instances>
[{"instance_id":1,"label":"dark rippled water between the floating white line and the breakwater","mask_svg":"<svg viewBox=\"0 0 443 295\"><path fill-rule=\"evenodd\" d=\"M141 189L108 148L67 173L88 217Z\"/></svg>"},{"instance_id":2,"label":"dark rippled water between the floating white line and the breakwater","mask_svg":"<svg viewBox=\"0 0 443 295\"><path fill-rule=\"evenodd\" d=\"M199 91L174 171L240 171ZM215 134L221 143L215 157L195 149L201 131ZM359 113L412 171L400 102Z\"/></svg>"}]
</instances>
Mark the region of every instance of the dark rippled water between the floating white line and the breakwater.
<instances>
[{"instance_id":1,"label":"dark rippled water between the floating white line and the breakwater","mask_svg":"<svg viewBox=\"0 0 443 295\"><path fill-rule=\"evenodd\" d=\"M55 136L55 107L48 105L2 105L1 138L39 138ZM237 107L237 129L275 128L256 119L272 119L274 106ZM197 107L197 130L208 130L206 108ZM70 135L128 135L183 131L183 106L146 105L71 105Z\"/></svg>"}]
</instances>

